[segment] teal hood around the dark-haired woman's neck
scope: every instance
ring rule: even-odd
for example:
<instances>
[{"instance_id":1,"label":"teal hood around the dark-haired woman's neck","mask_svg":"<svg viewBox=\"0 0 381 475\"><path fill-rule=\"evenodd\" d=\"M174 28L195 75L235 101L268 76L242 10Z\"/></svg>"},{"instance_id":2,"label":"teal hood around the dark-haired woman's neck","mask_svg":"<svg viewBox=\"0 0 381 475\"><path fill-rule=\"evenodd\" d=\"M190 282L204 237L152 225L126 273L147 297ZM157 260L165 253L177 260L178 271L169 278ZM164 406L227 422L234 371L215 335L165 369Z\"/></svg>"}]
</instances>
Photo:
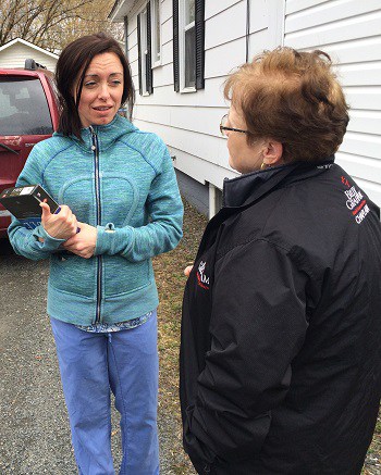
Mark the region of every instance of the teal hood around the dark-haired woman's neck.
<instances>
[{"instance_id":1,"label":"teal hood around the dark-haired woman's neck","mask_svg":"<svg viewBox=\"0 0 381 475\"><path fill-rule=\"evenodd\" d=\"M74 135L71 135L70 138L86 152L91 152L91 130L96 134L98 139L98 145L100 151L107 150L111 147L116 140L119 140L125 134L131 134L133 132L138 130L135 125L133 125L127 118L122 117L116 114L114 118L106 125L90 125L89 127L84 127L81 129L81 138L79 140ZM63 134L60 132L54 132L53 136L63 137ZM91 152L93 153L93 152Z\"/></svg>"}]
</instances>

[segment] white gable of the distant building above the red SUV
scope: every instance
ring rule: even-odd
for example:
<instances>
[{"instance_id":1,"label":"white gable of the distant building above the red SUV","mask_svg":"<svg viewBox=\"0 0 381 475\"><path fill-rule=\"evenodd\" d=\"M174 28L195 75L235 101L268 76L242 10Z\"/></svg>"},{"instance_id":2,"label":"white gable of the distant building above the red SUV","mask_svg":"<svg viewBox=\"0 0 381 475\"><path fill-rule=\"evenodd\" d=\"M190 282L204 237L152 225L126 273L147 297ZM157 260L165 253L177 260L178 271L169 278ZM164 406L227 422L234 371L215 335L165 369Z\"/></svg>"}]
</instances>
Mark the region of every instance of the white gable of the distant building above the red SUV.
<instances>
[{"instance_id":1,"label":"white gable of the distant building above the red SUV","mask_svg":"<svg viewBox=\"0 0 381 475\"><path fill-rule=\"evenodd\" d=\"M29 58L54 72L57 63L54 58L20 42L0 51L0 67L24 67L25 60Z\"/></svg>"}]
</instances>

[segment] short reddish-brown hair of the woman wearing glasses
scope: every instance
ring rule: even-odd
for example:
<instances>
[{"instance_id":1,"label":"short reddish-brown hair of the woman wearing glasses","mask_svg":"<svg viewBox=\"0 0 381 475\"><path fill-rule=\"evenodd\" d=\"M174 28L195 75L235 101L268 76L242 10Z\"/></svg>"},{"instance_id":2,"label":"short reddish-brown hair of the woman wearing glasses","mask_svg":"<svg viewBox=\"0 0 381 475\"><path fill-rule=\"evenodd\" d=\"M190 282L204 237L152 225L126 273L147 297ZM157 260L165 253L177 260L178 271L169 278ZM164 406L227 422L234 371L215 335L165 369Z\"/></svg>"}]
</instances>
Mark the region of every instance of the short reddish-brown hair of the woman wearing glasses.
<instances>
[{"instance_id":1,"label":"short reddish-brown hair of the woman wearing glasses","mask_svg":"<svg viewBox=\"0 0 381 475\"><path fill-rule=\"evenodd\" d=\"M323 51L276 48L257 55L225 82L224 96L242 111L247 139L283 145L283 159L318 161L343 141L348 105Z\"/></svg>"}]
</instances>

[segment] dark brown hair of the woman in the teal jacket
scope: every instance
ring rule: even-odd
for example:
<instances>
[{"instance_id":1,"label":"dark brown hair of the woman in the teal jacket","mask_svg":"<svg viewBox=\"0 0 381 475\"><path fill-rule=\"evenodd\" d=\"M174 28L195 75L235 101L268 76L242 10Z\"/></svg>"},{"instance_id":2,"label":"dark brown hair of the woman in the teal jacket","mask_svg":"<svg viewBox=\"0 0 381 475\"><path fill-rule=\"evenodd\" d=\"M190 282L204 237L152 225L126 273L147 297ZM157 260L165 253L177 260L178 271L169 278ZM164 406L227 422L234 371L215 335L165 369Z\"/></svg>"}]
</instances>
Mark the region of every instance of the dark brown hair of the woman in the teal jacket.
<instances>
[{"instance_id":1,"label":"dark brown hair of the woman in the teal jacket","mask_svg":"<svg viewBox=\"0 0 381 475\"><path fill-rule=\"evenodd\" d=\"M59 92L61 115L59 132L69 136L81 138L81 118L78 104L85 73L94 57L102 53L114 53L123 66L123 95L122 104L127 103L130 118L134 108L135 89L132 80L130 64L122 48L115 39L105 33L87 35L69 43L60 54L56 66L56 84ZM76 98L73 97L73 86L81 74Z\"/></svg>"}]
</instances>

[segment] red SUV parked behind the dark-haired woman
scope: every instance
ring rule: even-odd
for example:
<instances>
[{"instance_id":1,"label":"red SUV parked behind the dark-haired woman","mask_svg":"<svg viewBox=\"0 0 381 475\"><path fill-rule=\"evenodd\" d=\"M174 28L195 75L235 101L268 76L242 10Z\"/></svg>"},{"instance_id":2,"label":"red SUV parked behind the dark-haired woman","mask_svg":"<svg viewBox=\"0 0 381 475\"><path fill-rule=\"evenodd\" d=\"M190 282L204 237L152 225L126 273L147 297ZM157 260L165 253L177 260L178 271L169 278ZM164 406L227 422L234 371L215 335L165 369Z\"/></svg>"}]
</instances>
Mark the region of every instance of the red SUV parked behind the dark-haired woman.
<instances>
[{"instance_id":1,"label":"red SUV parked behind the dark-haired woman","mask_svg":"<svg viewBox=\"0 0 381 475\"><path fill-rule=\"evenodd\" d=\"M32 148L59 124L52 73L25 61L25 70L0 68L0 192L14 186ZM0 204L0 239L10 213Z\"/></svg>"}]
</instances>

